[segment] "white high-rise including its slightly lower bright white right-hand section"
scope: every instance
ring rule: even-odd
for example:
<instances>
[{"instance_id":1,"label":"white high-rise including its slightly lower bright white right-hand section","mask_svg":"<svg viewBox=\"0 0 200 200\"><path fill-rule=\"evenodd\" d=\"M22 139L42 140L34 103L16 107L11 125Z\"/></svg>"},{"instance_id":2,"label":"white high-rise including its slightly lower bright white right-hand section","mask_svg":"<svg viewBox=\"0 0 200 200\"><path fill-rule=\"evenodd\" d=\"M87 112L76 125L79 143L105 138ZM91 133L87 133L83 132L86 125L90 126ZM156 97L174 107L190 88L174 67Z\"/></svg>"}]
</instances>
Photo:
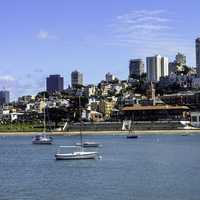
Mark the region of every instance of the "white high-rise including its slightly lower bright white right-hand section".
<instances>
[{"instance_id":1,"label":"white high-rise including its slightly lower bright white right-hand section","mask_svg":"<svg viewBox=\"0 0 200 200\"><path fill-rule=\"evenodd\" d=\"M168 72L168 58L156 55L146 58L147 77L149 81L159 81L161 76L167 76Z\"/></svg>"}]
</instances>

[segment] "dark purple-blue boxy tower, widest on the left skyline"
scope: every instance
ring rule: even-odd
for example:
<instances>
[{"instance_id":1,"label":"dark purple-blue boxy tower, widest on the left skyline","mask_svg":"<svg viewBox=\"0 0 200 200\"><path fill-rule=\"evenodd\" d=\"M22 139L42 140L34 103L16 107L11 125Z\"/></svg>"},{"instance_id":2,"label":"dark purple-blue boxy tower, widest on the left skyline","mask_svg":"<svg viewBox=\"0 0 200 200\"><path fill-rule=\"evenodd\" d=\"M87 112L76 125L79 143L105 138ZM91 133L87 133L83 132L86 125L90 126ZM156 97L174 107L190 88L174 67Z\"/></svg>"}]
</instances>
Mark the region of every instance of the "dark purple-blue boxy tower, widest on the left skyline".
<instances>
[{"instance_id":1,"label":"dark purple-blue boxy tower, widest on the left skyline","mask_svg":"<svg viewBox=\"0 0 200 200\"><path fill-rule=\"evenodd\" d=\"M64 86L64 79L60 75L50 75L46 79L46 88L50 93L62 91Z\"/></svg>"}]
</instances>

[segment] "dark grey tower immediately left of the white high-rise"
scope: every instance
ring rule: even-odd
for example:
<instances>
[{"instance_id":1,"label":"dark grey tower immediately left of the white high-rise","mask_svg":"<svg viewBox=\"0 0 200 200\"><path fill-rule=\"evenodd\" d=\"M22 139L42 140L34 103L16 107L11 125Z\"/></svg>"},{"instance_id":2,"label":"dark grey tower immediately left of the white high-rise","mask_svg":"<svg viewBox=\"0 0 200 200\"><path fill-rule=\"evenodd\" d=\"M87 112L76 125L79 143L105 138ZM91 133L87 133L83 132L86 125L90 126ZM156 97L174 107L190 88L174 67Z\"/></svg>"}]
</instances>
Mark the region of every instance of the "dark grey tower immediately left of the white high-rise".
<instances>
[{"instance_id":1,"label":"dark grey tower immediately left of the white high-rise","mask_svg":"<svg viewBox=\"0 0 200 200\"><path fill-rule=\"evenodd\" d=\"M133 59L129 61L129 78L139 78L144 73L144 61Z\"/></svg>"}]
</instances>

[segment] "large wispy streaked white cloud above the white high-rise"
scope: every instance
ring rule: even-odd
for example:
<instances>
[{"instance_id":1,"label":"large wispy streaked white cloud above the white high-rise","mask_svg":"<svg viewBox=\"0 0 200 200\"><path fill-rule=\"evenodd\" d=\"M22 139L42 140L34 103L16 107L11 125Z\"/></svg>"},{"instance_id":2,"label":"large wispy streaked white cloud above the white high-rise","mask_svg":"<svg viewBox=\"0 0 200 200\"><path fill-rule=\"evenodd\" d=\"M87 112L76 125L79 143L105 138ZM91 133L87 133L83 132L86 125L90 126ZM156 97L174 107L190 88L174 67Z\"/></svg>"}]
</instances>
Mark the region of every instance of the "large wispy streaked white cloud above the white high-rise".
<instances>
[{"instance_id":1,"label":"large wispy streaked white cloud above the white high-rise","mask_svg":"<svg viewBox=\"0 0 200 200\"><path fill-rule=\"evenodd\" d=\"M176 23L166 10L133 10L113 19L104 44L131 48L142 57L157 53L174 57L181 51L193 60L194 41L183 36Z\"/></svg>"}]
</instances>

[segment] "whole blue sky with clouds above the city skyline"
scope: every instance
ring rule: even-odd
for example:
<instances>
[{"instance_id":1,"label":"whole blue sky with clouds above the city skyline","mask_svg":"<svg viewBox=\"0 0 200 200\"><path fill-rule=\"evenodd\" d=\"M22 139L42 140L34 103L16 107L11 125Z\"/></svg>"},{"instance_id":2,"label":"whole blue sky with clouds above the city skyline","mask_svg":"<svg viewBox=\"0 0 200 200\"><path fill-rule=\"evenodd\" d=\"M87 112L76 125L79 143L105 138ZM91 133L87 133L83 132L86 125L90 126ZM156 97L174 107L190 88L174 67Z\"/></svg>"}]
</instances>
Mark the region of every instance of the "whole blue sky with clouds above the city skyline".
<instances>
[{"instance_id":1,"label":"whole blue sky with clouds above the city skyline","mask_svg":"<svg viewBox=\"0 0 200 200\"><path fill-rule=\"evenodd\" d=\"M173 60L178 51L194 66L199 8L199 0L0 0L0 89L34 95L55 73L67 87L75 69L85 83L106 72L126 79L129 59Z\"/></svg>"}]
</instances>

